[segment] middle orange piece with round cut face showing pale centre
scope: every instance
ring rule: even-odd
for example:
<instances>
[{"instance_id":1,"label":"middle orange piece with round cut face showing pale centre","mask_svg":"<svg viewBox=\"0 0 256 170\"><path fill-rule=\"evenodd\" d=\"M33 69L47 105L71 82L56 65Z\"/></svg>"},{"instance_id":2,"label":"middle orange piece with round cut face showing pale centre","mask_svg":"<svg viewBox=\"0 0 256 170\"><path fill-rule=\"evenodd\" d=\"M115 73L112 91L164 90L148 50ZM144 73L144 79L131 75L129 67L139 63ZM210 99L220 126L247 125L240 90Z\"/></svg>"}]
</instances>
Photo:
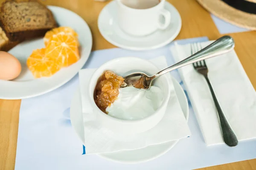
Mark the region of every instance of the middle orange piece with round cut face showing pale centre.
<instances>
[{"instance_id":1,"label":"middle orange piece with round cut face showing pale centre","mask_svg":"<svg viewBox=\"0 0 256 170\"><path fill-rule=\"evenodd\" d=\"M45 57L55 59L61 67L67 67L80 59L75 37L68 34L56 34L49 41Z\"/></svg>"}]
</instances>

